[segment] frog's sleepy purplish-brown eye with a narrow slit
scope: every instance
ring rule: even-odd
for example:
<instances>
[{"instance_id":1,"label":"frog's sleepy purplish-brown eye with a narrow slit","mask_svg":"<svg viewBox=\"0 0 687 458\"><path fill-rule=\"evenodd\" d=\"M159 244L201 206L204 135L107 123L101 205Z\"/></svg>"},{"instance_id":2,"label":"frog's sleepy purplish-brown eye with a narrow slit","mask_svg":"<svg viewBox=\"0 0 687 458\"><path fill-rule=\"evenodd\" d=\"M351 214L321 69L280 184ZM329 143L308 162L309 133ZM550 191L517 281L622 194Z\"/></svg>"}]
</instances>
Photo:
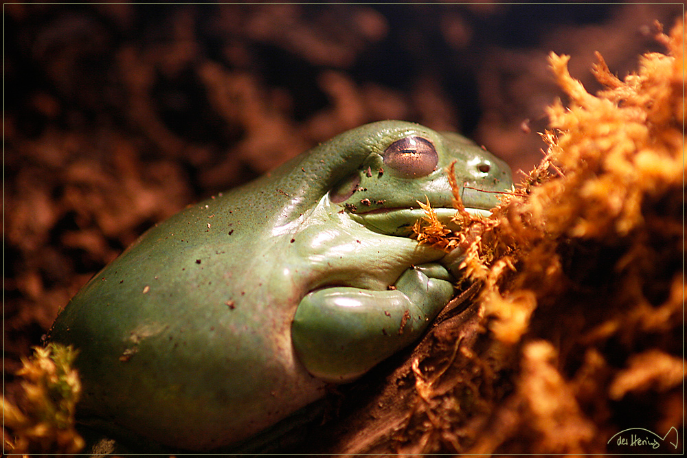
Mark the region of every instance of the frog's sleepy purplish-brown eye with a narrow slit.
<instances>
[{"instance_id":1,"label":"frog's sleepy purplish-brown eye with a narrow slit","mask_svg":"<svg viewBox=\"0 0 687 458\"><path fill-rule=\"evenodd\" d=\"M439 157L431 142L422 137L394 141L384 151L384 164L403 178L429 175L436 170Z\"/></svg>"}]
</instances>

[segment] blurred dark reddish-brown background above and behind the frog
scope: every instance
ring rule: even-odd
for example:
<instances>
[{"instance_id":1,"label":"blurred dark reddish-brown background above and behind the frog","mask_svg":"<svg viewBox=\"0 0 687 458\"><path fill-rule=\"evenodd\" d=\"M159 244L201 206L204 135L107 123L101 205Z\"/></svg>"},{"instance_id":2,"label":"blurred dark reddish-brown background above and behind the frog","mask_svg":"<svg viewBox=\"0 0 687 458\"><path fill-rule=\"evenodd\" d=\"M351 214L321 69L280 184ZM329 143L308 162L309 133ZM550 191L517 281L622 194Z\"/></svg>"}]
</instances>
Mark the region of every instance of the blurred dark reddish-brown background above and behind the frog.
<instances>
[{"instance_id":1,"label":"blurred dark reddish-brown background above and behind the frog","mask_svg":"<svg viewBox=\"0 0 687 458\"><path fill-rule=\"evenodd\" d=\"M682 5L5 5L4 358L142 231L349 128L541 159L550 51L590 91ZM516 174L516 180L519 175Z\"/></svg>"}]
</instances>

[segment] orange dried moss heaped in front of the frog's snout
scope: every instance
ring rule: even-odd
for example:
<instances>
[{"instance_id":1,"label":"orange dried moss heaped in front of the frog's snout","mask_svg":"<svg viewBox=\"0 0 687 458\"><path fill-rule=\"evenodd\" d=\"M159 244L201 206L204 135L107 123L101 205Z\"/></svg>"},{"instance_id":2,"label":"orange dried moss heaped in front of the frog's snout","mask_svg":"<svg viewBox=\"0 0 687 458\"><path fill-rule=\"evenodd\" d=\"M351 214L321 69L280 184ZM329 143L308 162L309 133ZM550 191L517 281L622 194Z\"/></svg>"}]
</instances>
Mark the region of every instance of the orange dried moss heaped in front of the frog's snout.
<instances>
[{"instance_id":1,"label":"orange dried moss heaped in front of the frog's snout","mask_svg":"<svg viewBox=\"0 0 687 458\"><path fill-rule=\"evenodd\" d=\"M597 53L596 95L550 54L570 101L548 108L545 159L491 220L459 211L464 229L445 233L428 209L416 226L420 242L467 250L466 277L485 285L476 347L493 370L481 375L512 387L442 427L460 446L436 439L422 451L627 453L646 450L607 444L625 428L680 430L682 21L657 39L667 53L645 54L624 80ZM446 395L420 391L434 399L427 417L445 415Z\"/></svg>"}]
</instances>

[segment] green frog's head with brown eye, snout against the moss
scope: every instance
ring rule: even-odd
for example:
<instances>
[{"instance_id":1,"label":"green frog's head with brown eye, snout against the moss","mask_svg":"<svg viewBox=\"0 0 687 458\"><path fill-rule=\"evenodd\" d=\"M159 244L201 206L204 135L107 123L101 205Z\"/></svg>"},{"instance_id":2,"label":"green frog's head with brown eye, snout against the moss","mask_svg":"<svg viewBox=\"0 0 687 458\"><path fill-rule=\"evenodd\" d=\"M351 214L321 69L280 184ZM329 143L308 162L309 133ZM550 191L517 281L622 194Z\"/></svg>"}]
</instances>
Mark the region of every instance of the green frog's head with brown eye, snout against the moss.
<instances>
[{"instance_id":1,"label":"green frog's head with brown eye, snout against the moss","mask_svg":"<svg viewBox=\"0 0 687 458\"><path fill-rule=\"evenodd\" d=\"M330 201L373 231L407 236L425 212L425 196L444 223L455 209L447 168L455 161L455 179L466 210L488 214L498 192L510 191L508 165L469 139L438 133L417 124L390 124L370 139L372 152L362 165L330 192Z\"/></svg>"}]
</instances>

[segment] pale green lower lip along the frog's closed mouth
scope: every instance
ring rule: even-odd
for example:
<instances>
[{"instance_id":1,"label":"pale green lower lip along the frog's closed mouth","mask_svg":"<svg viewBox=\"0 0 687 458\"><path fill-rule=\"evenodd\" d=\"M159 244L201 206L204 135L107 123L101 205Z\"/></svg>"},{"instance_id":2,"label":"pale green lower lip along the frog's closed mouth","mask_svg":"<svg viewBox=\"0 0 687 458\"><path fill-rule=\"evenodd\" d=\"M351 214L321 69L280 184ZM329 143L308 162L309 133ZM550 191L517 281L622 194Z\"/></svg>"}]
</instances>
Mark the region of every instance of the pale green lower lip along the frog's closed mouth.
<instances>
[{"instance_id":1,"label":"pale green lower lip along the frog's closed mouth","mask_svg":"<svg viewBox=\"0 0 687 458\"><path fill-rule=\"evenodd\" d=\"M434 208L437 219L452 231L459 227L451 218L455 216L455 208ZM481 208L466 208L469 214L475 216L489 216L491 211ZM403 207L380 208L364 213L350 213L350 217L367 227L371 231L383 233L389 236L409 236L410 228L417 220L426 216L423 209L411 209Z\"/></svg>"}]
</instances>

